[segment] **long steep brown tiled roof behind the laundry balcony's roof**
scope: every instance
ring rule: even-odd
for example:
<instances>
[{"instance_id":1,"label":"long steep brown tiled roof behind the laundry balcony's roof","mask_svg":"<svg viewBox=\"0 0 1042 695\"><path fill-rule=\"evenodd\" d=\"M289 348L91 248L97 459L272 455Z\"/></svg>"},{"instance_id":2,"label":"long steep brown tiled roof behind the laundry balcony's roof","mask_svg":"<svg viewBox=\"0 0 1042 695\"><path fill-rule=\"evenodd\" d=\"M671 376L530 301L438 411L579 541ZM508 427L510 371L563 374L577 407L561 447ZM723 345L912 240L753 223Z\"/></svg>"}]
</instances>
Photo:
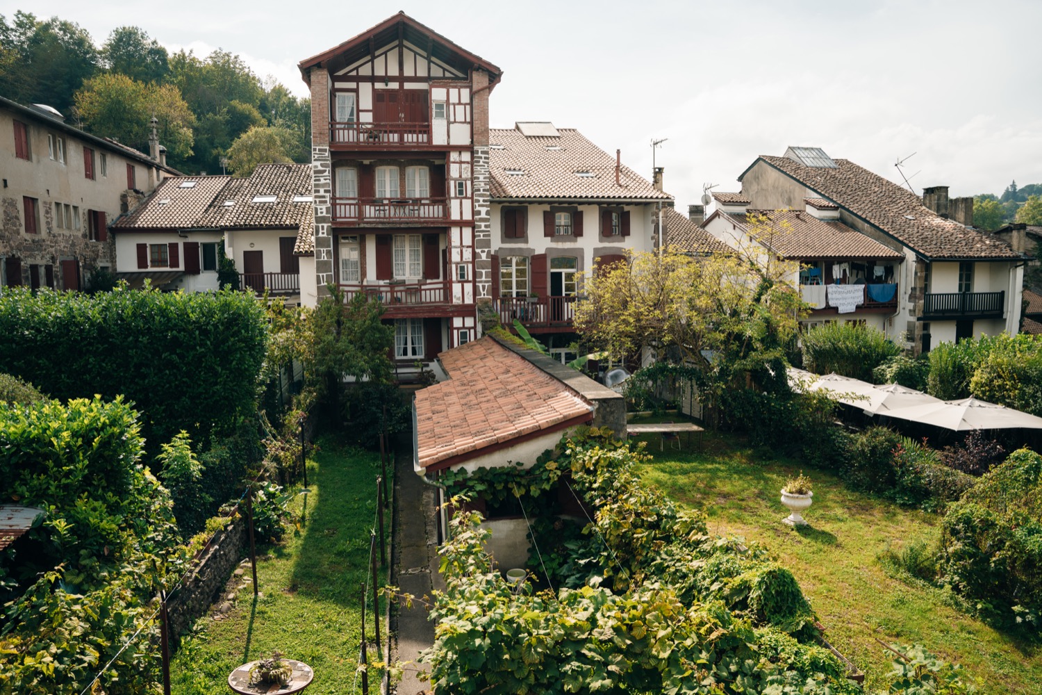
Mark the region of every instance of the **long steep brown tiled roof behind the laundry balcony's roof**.
<instances>
[{"instance_id":1,"label":"long steep brown tiled roof behind the laundry balcony's roof","mask_svg":"<svg viewBox=\"0 0 1042 695\"><path fill-rule=\"evenodd\" d=\"M788 157L760 159L929 259L1021 257L1003 242L940 217L919 196L848 159L836 159L836 169L807 167Z\"/></svg>"}]
</instances>

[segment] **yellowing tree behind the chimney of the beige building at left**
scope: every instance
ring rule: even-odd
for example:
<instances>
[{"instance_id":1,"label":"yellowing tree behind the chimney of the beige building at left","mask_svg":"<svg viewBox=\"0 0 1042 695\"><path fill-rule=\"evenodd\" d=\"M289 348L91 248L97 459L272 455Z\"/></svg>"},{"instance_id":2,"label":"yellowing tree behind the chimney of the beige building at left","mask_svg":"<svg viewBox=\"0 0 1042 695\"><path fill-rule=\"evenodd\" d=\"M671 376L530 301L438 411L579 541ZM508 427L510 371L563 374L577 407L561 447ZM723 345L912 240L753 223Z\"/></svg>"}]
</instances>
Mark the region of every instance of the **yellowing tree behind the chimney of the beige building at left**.
<instances>
[{"instance_id":1,"label":"yellowing tree behind the chimney of the beige building at left","mask_svg":"<svg viewBox=\"0 0 1042 695\"><path fill-rule=\"evenodd\" d=\"M172 84L145 84L126 75L101 74L76 93L76 111L88 130L146 152L154 115L170 164L176 166L192 155L195 116Z\"/></svg>"}]
</instances>

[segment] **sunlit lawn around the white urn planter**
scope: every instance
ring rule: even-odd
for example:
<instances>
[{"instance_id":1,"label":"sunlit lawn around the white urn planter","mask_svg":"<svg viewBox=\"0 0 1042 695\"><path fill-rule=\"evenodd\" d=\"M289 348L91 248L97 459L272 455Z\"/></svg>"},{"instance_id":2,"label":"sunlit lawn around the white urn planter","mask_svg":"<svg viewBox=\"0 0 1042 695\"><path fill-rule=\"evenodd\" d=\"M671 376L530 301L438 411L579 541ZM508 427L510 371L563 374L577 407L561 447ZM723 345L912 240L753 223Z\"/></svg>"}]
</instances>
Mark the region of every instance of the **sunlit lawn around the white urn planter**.
<instances>
[{"instance_id":1,"label":"sunlit lawn around the white urn planter","mask_svg":"<svg viewBox=\"0 0 1042 695\"><path fill-rule=\"evenodd\" d=\"M741 536L774 552L817 611L825 637L877 685L890 670L875 642L919 642L962 664L986 693L1039 692L1042 653L960 613L943 592L889 576L877 556L888 546L932 543L939 517L852 492L830 473L752 451L736 438L706 432L683 451L660 451L647 437L654 462L642 471L681 505L702 508L710 531ZM684 443L681 437L681 444ZM814 480L814 504L803 513L811 526L794 530L779 491L800 468Z\"/></svg>"}]
</instances>

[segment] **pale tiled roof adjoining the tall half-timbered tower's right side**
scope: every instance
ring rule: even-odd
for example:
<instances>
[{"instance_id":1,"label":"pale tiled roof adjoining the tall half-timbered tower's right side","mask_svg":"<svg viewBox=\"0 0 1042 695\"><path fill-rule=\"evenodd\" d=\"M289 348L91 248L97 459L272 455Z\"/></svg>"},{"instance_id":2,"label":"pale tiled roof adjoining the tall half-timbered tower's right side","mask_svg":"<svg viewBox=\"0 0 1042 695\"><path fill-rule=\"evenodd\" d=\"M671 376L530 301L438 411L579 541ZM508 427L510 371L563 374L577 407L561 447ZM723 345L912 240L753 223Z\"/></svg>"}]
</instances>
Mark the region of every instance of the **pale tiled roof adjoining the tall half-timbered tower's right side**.
<instances>
[{"instance_id":1,"label":"pale tiled roof adjoining the tall half-timbered tower's right side","mask_svg":"<svg viewBox=\"0 0 1042 695\"><path fill-rule=\"evenodd\" d=\"M671 199L625 165L616 185L614 156L574 128L559 128L557 132L559 138L526 138L517 128L489 129L493 200Z\"/></svg>"}]
</instances>

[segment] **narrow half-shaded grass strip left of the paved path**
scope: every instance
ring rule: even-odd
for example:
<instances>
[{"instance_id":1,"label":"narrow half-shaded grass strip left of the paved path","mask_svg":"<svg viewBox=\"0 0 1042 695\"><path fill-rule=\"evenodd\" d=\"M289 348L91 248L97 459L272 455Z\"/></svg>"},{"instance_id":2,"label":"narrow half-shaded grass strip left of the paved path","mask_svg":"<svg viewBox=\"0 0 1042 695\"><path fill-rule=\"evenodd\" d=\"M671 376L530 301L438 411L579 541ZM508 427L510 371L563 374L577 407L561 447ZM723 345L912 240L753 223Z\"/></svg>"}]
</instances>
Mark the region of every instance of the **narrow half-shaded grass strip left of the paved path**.
<instances>
[{"instance_id":1,"label":"narrow half-shaded grass strip left of the paved path","mask_svg":"<svg viewBox=\"0 0 1042 695\"><path fill-rule=\"evenodd\" d=\"M257 550L260 598L255 600L247 585L223 620L207 615L197 621L194 635L181 641L172 661L173 693L226 695L232 669L274 649L314 668L308 695L362 692L361 682L355 684L359 601L369 568L379 456L330 448L317 452L307 470L311 494L293 502L297 527L281 545ZM390 540L390 514L384 519ZM244 569L249 577L249 566ZM379 576L382 582L384 570ZM386 640L384 627L380 636ZM372 630L369 611L370 640Z\"/></svg>"}]
</instances>

